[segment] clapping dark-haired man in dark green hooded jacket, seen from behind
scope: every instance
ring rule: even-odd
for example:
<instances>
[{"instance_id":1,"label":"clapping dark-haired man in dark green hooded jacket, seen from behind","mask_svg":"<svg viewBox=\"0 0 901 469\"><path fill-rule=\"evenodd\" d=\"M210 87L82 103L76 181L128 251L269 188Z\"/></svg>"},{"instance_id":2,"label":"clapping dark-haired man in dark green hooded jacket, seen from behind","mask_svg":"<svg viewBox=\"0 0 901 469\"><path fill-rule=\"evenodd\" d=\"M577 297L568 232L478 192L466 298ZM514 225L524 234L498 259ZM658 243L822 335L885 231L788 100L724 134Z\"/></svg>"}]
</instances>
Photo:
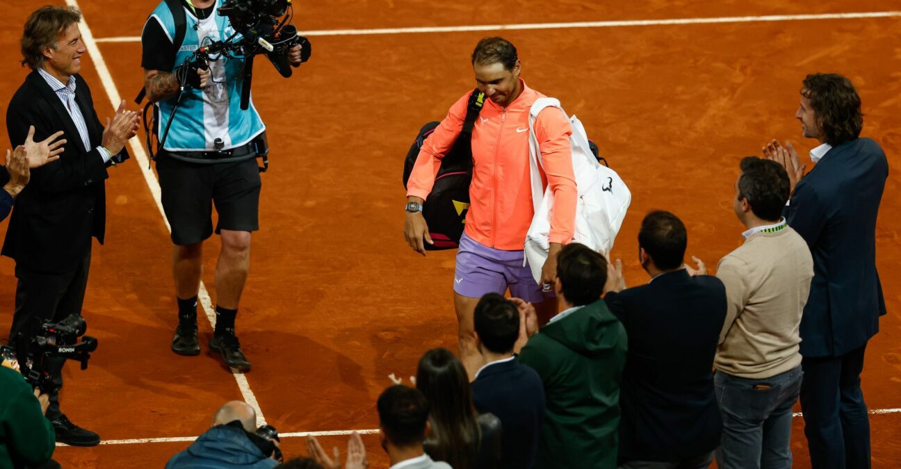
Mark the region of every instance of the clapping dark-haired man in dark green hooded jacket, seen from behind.
<instances>
[{"instance_id":1,"label":"clapping dark-haired man in dark green hooded jacket, seen from behind","mask_svg":"<svg viewBox=\"0 0 901 469\"><path fill-rule=\"evenodd\" d=\"M544 383L545 411L536 468L607 469L616 465L623 325L601 300L603 256L581 245L560 250L554 291L560 314L537 330L532 305L518 302L529 336L520 363Z\"/></svg>"}]
</instances>

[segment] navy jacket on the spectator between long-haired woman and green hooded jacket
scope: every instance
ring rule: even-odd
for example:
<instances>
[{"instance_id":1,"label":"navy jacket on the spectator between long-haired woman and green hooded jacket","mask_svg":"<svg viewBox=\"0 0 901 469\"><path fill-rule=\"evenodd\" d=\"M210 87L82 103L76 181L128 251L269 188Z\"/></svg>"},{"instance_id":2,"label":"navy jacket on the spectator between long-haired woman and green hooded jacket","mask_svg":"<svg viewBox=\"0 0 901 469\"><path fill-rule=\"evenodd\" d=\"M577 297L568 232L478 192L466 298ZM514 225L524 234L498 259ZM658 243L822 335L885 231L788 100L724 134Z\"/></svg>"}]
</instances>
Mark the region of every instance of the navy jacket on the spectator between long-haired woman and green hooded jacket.
<instances>
[{"instance_id":1,"label":"navy jacket on the spectator between long-haired woman and green hooded jacket","mask_svg":"<svg viewBox=\"0 0 901 469\"><path fill-rule=\"evenodd\" d=\"M491 412L504 428L501 469L531 468L542 435L544 386L538 373L516 360L488 365L472 383L479 413Z\"/></svg>"}]
</instances>

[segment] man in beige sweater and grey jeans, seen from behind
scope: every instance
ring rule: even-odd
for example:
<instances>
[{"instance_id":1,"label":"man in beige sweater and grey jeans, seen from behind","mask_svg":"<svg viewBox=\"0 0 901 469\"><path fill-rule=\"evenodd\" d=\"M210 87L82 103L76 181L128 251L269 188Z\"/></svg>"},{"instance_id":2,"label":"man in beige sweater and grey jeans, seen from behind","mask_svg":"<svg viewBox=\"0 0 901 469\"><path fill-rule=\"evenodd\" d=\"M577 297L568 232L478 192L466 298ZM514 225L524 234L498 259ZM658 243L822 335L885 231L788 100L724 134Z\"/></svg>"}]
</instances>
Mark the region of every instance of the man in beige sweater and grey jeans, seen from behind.
<instances>
[{"instance_id":1,"label":"man in beige sweater and grey jeans, seen from behind","mask_svg":"<svg viewBox=\"0 0 901 469\"><path fill-rule=\"evenodd\" d=\"M814 276L805 240L782 209L788 176L775 161L742 159L733 206L745 241L720 261L728 310L714 384L723 416L720 469L790 468L791 410L801 389L798 334Z\"/></svg>"}]
</instances>

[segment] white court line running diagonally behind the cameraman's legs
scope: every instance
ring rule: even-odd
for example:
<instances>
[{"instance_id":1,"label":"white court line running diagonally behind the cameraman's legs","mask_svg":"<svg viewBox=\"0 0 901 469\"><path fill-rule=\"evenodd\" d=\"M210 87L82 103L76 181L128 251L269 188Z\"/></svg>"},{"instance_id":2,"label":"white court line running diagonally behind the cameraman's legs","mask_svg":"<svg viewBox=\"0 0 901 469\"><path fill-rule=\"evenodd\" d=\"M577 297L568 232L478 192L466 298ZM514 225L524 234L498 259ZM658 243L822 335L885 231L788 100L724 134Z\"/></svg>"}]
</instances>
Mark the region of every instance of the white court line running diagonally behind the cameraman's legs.
<instances>
[{"instance_id":1,"label":"white court line running diagonally behind the cameraman's legs","mask_svg":"<svg viewBox=\"0 0 901 469\"><path fill-rule=\"evenodd\" d=\"M78 8L77 0L66 0L66 4ZM80 8L78 9L80 10ZM94 61L97 75L100 76L100 82L106 90L106 96L109 97L110 104L113 104L113 108L117 109L119 104L122 103L122 95L119 95L119 90L115 86L113 76L110 75L109 68L106 67L104 56L100 53L100 49L97 48L97 41L95 41L94 34L91 32L91 28L88 27L87 20L84 17L81 20L80 29L82 39L85 41L87 53L90 54L91 59ZM132 140L129 140L128 143L132 149L132 155L134 155L134 158L137 160L138 166L141 167L141 173L143 173L144 181L147 182L147 186L150 188L150 194L153 195L153 200L157 203L159 214L162 215L163 222L166 223L166 229L171 232L172 227L169 226L168 220L166 219L166 213L163 212L159 182L157 181L157 177L153 175L153 171L150 169L150 160L147 158L147 153L141 146L141 139L135 137ZM206 319L210 321L211 326L214 326L216 322L215 310L213 302L210 300L210 293L206 291L206 285L203 282L200 283L200 291L197 293L197 297L204 308ZM241 390L241 396L244 398L244 401L257 412L257 426L266 425L266 418L263 417L263 411L259 408L257 396L250 390L250 383L247 382L247 376L244 376L244 374L237 372L233 368L232 375L234 376L234 380L238 383L238 388Z\"/></svg>"}]
</instances>

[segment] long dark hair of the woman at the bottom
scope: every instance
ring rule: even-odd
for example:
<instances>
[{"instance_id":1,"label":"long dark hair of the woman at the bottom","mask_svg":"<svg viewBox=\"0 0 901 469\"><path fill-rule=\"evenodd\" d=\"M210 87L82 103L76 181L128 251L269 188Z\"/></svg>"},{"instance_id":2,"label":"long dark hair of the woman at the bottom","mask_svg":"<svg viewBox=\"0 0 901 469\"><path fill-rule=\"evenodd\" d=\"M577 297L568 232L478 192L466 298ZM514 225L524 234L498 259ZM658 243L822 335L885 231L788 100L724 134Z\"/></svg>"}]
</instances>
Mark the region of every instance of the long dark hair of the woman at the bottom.
<instances>
[{"instance_id":1,"label":"long dark hair of the woman at the bottom","mask_svg":"<svg viewBox=\"0 0 901 469\"><path fill-rule=\"evenodd\" d=\"M446 348L432 348L419 360L416 389L429 401L432 431L425 438L425 452L454 469L476 467L478 414L472 404L469 376Z\"/></svg>"}]
</instances>

